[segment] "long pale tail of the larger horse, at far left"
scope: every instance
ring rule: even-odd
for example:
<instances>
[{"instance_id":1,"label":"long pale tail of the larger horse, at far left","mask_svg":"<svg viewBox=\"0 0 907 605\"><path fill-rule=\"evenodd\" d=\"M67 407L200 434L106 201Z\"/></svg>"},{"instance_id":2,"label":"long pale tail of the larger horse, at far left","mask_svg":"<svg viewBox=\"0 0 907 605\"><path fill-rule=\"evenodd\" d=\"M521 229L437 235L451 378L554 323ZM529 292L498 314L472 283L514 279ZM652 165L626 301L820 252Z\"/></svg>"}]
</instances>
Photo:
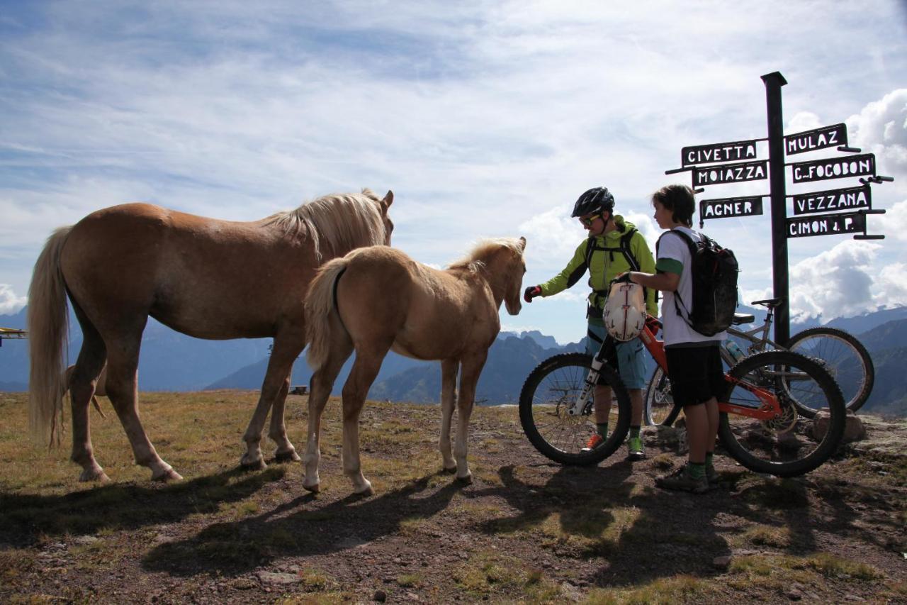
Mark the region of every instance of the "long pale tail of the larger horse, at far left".
<instances>
[{"instance_id":1,"label":"long pale tail of the larger horse, at far left","mask_svg":"<svg viewBox=\"0 0 907 605\"><path fill-rule=\"evenodd\" d=\"M51 445L60 443L61 394L68 386L64 383L63 345L69 325L60 254L72 229L61 227L47 238L28 287L28 421L35 439Z\"/></svg>"}]
</instances>

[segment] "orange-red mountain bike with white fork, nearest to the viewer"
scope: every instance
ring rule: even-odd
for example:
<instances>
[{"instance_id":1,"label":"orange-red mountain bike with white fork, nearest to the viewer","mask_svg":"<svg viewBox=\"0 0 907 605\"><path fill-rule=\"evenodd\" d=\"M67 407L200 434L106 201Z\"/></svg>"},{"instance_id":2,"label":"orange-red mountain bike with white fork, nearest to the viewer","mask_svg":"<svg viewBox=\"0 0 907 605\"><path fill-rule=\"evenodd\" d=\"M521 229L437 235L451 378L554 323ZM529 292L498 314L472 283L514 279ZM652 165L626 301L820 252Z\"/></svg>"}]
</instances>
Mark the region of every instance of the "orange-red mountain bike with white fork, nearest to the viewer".
<instances>
[{"instance_id":1,"label":"orange-red mountain bike with white fork, nearest to the viewer","mask_svg":"<svg viewBox=\"0 0 907 605\"><path fill-rule=\"evenodd\" d=\"M649 316L639 338L665 371L660 323ZM594 356L554 355L541 362L522 385L520 422L527 438L544 456L561 464L596 464L616 451L629 430L629 393L605 360L615 346L608 336ZM814 470L837 449L847 413L831 374L800 353L758 352L725 374L727 392L718 402L718 438L728 454L751 471L790 477ZM608 383L616 405L614 427L598 447L587 448L595 434L592 391ZM798 412L795 402L827 408L827 430Z\"/></svg>"}]
</instances>

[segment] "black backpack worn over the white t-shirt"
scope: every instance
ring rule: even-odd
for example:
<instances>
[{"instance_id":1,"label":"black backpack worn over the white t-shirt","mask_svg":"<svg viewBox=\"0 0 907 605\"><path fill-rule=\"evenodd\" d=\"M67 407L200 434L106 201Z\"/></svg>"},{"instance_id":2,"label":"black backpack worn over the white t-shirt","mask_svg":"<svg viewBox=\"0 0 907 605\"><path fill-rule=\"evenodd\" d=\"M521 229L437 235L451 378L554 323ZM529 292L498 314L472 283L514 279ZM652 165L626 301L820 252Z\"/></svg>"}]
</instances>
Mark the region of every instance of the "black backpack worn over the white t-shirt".
<instances>
[{"instance_id":1,"label":"black backpack worn over the white t-shirt","mask_svg":"<svg viewBox=\"0 0 907 605\"><path fill-rule=\"evenodd\" d=\"M736 256L702 233L699 234L701 241L698 243L679 229L667 233L677 233L687 243L692 259L690 275L693 280L693 309L690 311L684 306L685 312L680 312L683 301L680 294L675 293L674 306L678 315L689 327L704 336L714 336L727 330L734 321L737 304L736 281L740 269ZM667 233L662 233L661 237ZM658 238L658 243L661 243L661 237ZM656 253L658 243L655 246Z\"/></svg>"}]
</instances>

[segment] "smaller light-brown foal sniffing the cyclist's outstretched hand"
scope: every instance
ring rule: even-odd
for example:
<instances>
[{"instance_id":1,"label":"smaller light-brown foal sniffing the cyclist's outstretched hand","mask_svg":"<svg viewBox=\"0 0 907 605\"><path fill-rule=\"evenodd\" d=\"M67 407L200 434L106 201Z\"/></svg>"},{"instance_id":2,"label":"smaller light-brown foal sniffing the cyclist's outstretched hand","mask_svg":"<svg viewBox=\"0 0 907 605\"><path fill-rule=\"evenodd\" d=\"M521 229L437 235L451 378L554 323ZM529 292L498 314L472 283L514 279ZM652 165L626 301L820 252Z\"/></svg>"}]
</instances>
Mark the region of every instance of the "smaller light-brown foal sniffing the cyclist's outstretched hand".
<instances>
[{"instance_id":1,"label":"smaller light-brown foal sniffing the cyclist's outstretched hand","mask_svg":"<svg viewBox=\"0 0 907 605\"><path fill-rule=\"evenodd\" d=\"M439 271L385 246L364 248L326 263L306 299L308 397L306 479L319 490L321 413L340 367L355 350L356 362L343 387L343 468L356 493L372 493L359 462L359 412L389 350L421 360L441 360L441 439L444 470L472 481L466 465L466 435L475 384L501 322L501 302L520 312L526 240L492 240L466 259ZM454 394L460 372L459 395ZM458 408L451 456L454 399ZM454 462L454 457L456 461Z\"/></svg>"}]
</instances>

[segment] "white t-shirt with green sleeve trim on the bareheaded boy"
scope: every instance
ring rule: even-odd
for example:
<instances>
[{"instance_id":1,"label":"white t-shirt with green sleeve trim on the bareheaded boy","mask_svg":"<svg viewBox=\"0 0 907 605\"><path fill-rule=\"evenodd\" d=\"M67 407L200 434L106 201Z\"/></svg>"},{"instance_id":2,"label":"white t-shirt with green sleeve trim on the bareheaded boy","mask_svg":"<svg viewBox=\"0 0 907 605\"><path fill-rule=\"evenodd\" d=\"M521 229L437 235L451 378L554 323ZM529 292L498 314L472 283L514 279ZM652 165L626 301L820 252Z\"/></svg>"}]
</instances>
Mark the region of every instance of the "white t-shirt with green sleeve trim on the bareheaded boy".
<instances>
[{"instance_id":1,"label":"white t-shirt with green sleeve trim on the bareheaded boy","mask_svg":"<svg viewBox=\"0 0 907 605\"><path fill-rule=\"evenodd\" d=\"M699 242L701 238L699 233L688 227L675 227L672 231L682 231L693 238L694 242ZM693 306L693 282L690 277L689 246L687 241L682 239L682 235L673 235L666 232L658 242L658 259L656 268L664 273L677 273L677 263L682 265L680 273L680 283L678 283L677 293L663 292L661 301L661 323L663 326L665 346L707 344L723 341L727 338L727 332L718 332L712 336L705 336L696 332L689 326L683 317L678 317L677 307L674 304L674 297L680 295L683 305L680 306L680 312L686 316L686 310ZM672 269L675 269L672 271Z\"/></svg>"}]
</instances>

